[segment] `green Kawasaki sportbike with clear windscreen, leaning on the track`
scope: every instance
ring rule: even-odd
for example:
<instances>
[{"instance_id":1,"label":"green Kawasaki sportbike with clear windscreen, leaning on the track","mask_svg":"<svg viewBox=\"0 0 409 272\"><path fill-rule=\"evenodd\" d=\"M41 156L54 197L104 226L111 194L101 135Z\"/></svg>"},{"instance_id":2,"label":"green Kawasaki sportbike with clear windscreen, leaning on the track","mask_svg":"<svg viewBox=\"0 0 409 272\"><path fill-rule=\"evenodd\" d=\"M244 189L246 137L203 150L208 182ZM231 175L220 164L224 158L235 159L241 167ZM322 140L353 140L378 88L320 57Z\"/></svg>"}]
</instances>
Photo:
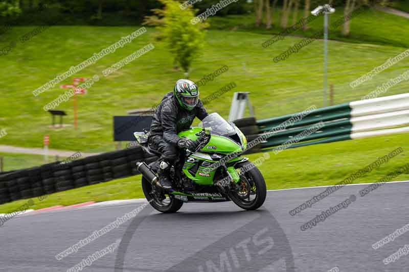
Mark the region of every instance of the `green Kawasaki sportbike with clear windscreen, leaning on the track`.
<instances>
[{"instance_id":1,"label":"green Kawasaki sportbike with clear windscreen, leaning on the track","mask_svg":"<svg viewBox=\"0 0 409 272\"><path fill-rule=\"evenodd\" d=\"M149 132L135 132L134 136L147 153L160 156L147 145ZM263 205L264 178L248 158L240 156L246 150L247 140L234 123L212 113L199 127L182 131L178 136L196 141L197 147L194 151L180 152L179 161L171 167L172 190L161 186L152 163L149 166L145 162L137 163L143 176L142 189L153 208L170 213L188 202L233 201L245 210Z\"/></svg>"}]
</instances>

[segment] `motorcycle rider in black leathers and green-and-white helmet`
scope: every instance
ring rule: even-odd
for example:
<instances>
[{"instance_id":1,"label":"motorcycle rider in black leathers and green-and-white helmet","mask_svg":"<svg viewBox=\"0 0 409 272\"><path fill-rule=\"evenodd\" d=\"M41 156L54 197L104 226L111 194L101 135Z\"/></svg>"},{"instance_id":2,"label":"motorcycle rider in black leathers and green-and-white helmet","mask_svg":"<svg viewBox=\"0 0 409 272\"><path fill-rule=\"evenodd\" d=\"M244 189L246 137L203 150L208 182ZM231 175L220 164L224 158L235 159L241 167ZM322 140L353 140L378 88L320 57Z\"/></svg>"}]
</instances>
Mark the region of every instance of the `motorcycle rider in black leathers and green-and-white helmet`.
<instances>
[{"instance_id":1,"label":"motorcycle rider in black leathers and green-and-white helmet","mask_svg":"<svg viewBox=\"0 0 409 272\"><path fill-rule=\"evenodd\" d=\"M179 150L193 151L197 146L194 141L180 138L177 133L190 129L195 117L203 120L206 116L208 113L199 99L197 85L186 79L176 81L173 92L167 93L156 108L148 142L150 149L161 154L154 168L165 189L172 188L169 170L171 164L176 163Z\"/></svg>"}]
</instances>

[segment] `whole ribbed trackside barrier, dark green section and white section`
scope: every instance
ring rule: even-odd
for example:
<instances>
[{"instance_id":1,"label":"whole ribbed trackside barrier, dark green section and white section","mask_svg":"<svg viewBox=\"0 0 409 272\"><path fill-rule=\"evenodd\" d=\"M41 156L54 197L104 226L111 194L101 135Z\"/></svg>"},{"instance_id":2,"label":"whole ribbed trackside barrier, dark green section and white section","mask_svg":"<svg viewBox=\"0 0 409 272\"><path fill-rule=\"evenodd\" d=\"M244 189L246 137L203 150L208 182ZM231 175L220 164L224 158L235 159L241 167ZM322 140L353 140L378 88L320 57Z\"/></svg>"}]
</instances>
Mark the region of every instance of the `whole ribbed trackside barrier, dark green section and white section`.
<instances>
[{"instance_id":1,"label":"whole ribbed trackside barrier, dark green section and white section","mask_svg":"<svg viewBox=\"0 0 409 272\"><path fill-rule=\"evenodd\" d=\"M286 142L291 144L292 141L294 143L288 148L409 132L409 93L314 110L311 108L313 107L298 113L258 120L256 123L261 134L249 137L264 140L257 146L258 150L265 152L281 149L279 145ZM320 130L311 130L320 122ZM299 134L301 135L297 137Z\"/></svg>"}]
</instances>

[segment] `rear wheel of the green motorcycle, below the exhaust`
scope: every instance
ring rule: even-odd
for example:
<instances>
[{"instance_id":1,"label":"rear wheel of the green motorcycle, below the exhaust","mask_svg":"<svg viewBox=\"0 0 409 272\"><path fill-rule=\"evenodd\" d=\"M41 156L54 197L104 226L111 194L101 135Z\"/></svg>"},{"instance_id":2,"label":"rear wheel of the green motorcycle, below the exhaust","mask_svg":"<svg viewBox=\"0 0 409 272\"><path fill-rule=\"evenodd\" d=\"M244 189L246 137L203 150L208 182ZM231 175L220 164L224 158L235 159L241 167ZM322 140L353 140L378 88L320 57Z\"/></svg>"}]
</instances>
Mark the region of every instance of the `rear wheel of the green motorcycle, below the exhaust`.
<instances>
[{"instance_id":1,"label":"rear wheel of the green motorcycle, below the exhaust","mask_svg":"<svg viewBox=\"0 0 409 272\"><path fill-rule=\"evenodd\" d=\"M172 194L161 193L157 188L152 192L152 184L144 177L142 177L142 189L150 205L160 212L177 212L183 205L183 201L175 199Z\"/></svg>"}]
</instances>

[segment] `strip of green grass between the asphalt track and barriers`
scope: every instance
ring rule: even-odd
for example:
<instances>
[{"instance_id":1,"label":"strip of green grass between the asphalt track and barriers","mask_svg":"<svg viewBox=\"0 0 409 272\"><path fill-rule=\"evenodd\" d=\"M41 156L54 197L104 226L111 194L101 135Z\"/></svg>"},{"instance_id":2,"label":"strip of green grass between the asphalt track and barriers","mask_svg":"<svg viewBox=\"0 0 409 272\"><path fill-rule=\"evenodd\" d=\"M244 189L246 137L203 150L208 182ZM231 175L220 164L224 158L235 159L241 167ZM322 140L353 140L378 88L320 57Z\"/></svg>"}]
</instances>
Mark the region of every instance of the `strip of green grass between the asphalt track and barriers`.
<instances>
[{"instance_id":1,"label":"strip of green grass between the asphalt track and barriers","mask_svg":"<svg viewBox=\"0 0 409 272\"><path fill-rule=\"evenodd\" d=\"M401 154L353 182L372 183L409 163L408 140L409 135L400 134L299 147L285 150L278 155L270 152L270 158L264 161L259 169L268 189L333 185L376 161L378 157L383 157L398 147L402 147ZM262 155L251 154L247 157L254 161ZM402 174L395 179L395 181L401 180L409 180L409 173ZM34 197L34 205L30 208L40 209L87 201L100 202L141 197L144 195L139 175L53 193L43 201ZM0 205L0 213L13 212L27 201L28 199L25 199Z\"/></svg>"}]
</instances>

